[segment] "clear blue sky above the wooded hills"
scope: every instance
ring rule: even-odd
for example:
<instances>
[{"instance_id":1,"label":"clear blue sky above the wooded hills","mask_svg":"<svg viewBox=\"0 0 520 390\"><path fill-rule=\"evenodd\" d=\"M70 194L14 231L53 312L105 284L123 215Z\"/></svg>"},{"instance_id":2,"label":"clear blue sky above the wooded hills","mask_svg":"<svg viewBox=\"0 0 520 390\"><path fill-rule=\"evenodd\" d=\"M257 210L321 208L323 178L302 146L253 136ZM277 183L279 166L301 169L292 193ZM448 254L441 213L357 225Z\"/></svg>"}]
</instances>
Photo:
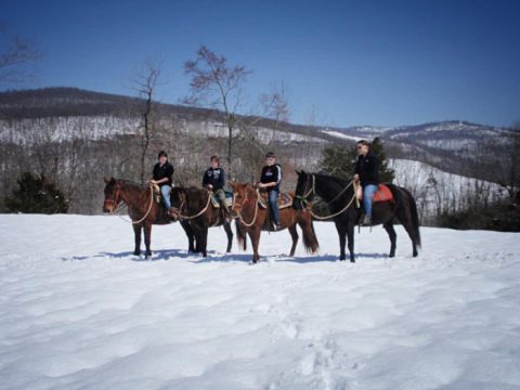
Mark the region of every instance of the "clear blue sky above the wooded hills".
<instances>
[{"instance_id":1,"label":"clear blue sky above the wooded hills","mask_svg":"<svg viewBox=\"0 0 520 390\"><path fill-rule=\"evenodd\" d=\"M132 94L146 58L158 98L187 94L200 44L251 69L248 105L284 81L294 122L413 125L520 120L520 1L0 1L10 32L44 52L37 80Z\"/></svg>"}]
</instances>

